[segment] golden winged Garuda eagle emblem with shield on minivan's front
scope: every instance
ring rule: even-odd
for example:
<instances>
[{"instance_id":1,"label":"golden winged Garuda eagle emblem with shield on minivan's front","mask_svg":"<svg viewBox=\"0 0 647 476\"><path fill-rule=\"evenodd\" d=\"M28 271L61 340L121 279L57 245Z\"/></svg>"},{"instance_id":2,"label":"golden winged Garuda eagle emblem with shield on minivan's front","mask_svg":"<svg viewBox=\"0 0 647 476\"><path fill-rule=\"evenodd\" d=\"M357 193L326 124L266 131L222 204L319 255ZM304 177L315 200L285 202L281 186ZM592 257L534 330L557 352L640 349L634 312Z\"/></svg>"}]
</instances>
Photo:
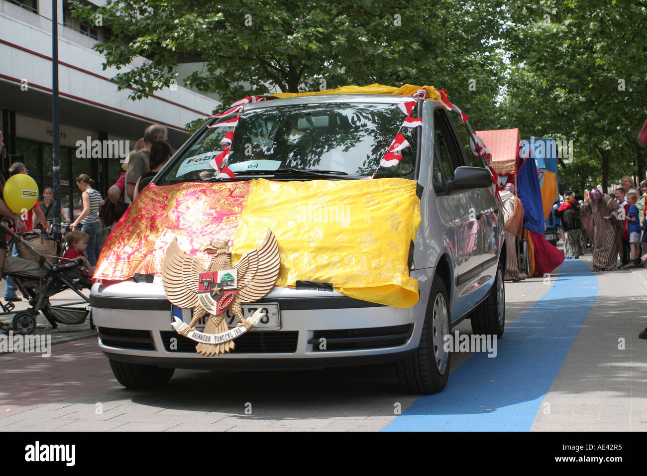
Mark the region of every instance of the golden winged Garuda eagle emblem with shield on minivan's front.
<instances>
[{"instance_id":1,"label":"golden winged Garuda eagle emblem with shield on minivan's front","mask_svg":"<svg viewBox=\"0 0 647 476\"><path fill-rule=\"evenodd\" d=\"M193 310L190 324L175 317L171 326L198 342L198 354L213 356L232 350L232 339L245 334L265 316L257 310L245 319L241 302L254 302L269 293L278 277L281 258L270 229L258 248L245 253L236 266L232 266L228 241L212 242L204 251L213 256L208 269L197 258L187 256L177 239L173 240L162 263L162 281L168 300L179 308ZM225 320L226 310L241 321L231 330ZM195 323L206 314L209 319L204 332L199 332Z\"/></svg>"}]
</instances>

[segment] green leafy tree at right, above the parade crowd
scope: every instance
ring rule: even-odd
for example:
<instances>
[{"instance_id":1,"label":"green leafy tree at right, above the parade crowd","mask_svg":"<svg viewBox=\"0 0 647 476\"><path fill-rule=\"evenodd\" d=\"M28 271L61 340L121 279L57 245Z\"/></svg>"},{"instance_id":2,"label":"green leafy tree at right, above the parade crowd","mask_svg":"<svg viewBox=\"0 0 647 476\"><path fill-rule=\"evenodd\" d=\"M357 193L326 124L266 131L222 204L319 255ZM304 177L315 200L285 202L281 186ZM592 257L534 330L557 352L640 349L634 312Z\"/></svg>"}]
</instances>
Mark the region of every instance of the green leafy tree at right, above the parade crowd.
<instances>
[{"instance_id":1,"label":"green leafy tree at right, above the parade crowd","mask_svg":"<svg viewBox=\"0 0 647 476\"><path fill-rule=\"evenodd\" d=\"M572 140L560 181L604 191L623 175L645 177L637 132L647 118L647 5L545 0L509 5L510 73L500 126L522 137Z\"/></svg>"}]
</instances>

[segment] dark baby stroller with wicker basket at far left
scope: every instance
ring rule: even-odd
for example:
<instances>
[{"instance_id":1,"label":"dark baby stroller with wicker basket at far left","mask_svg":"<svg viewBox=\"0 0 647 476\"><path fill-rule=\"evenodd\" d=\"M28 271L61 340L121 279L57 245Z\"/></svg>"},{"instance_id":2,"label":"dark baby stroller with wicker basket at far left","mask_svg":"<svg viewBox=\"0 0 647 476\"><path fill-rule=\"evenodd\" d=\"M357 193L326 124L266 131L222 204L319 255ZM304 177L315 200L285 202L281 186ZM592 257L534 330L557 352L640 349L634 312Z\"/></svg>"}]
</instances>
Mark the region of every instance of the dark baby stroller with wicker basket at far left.
<instances>
[{"instance_id":1,"label":"dark baby stroller with wicker basket at far left","mask_svg":"<svg viewBox=\"0 0 647 476\"><path fill-rule=\"evenodd\" d=\"M0 221L0 232L8 234L11 238L9 245L16 244L21 248L21 254L30 259L17 256L7 256L3 277L12 277L23 295L28 296L30 308L17 312L14 316L14 332L19 334L32 334L36 329L36 317L42 312L52 328L61 324L82 324L90 312L90 300L85 297L81 289L90 289L92 282L81 274L83 261L80 258L63 262L60 255L62 246L53 242L54 254L44 255L25 239L28 234L18 235L7 226L5 221ZM34 233L34 238L39 238L39 232ZM33 243L33 242L32 242ZM49 242L50 244L52 242ZM71 302L63 306L52 306L49 298L64 291L72 289L82 301ZM83 308L72 307L75 304L85 304ZM6 315L14 309L13 302L0 302L2 313ZM90 326L93 328L92 317Z\"/></svg>"}]
</instances>

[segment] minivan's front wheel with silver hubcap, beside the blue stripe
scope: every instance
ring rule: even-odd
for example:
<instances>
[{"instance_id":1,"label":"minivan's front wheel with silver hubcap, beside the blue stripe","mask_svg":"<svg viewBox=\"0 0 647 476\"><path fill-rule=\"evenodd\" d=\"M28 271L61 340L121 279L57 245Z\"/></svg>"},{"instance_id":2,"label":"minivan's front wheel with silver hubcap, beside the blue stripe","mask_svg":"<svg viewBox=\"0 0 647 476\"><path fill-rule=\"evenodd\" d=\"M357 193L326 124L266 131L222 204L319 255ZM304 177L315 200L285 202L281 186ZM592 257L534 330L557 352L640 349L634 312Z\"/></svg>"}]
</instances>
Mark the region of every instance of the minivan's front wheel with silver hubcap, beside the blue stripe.
<instances>
[{"instance_id":1,"label":"minivan's front wheel with silver hubcap, beside the blue stripe","mask_svg":"<svg viewBox=\"0 0 647 476\"><path fill-rule=\"evenodd\" d=\"M443 280L435 276L418 348L410 356L395 363L403 391L430 394L444 389L452 354L444 351L443 337L449 333L449 299Z\"/></svg>"}]
</instances>

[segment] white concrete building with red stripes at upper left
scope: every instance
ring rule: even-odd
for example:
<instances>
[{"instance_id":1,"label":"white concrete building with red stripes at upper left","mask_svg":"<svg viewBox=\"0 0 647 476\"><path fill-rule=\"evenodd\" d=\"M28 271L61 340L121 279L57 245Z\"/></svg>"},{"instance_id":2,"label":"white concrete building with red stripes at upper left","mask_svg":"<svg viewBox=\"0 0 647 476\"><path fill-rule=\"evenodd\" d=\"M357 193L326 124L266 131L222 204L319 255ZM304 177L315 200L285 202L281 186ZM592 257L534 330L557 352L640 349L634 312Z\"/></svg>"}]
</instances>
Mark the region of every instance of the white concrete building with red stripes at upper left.
<instances>
[{"instance_id":1,"label":"white concrete building with red stripes at upper left","mask_svg":"<svg viewBox=\"0 0 647 476\"><path fill-rule=\"evenodd\" d=\"M6 177L10 163L24 162L41 190L52 185L51 5L49 0L0 0L2 171ZM111 82L116 69L104 71L104 57L92 49L110 34L107 28L72 18L67 1L58 0L61 196L67 213L79 208L80 191L74 180L78 174L93 177L105 197L121 172L114 151L84 154L85 148L77 146L80 141L120 141L114 143L122 149L121 141L129 141L132 149L146 126L157 122L168 127L169 141L178 148L189 137L184 126L206 119L220 104L181 85L146 99L128 99L131 91L117 91ZM133 63L143 61L137 58Z\"/></svg>"}]
</instances>

